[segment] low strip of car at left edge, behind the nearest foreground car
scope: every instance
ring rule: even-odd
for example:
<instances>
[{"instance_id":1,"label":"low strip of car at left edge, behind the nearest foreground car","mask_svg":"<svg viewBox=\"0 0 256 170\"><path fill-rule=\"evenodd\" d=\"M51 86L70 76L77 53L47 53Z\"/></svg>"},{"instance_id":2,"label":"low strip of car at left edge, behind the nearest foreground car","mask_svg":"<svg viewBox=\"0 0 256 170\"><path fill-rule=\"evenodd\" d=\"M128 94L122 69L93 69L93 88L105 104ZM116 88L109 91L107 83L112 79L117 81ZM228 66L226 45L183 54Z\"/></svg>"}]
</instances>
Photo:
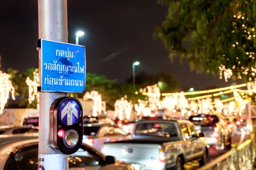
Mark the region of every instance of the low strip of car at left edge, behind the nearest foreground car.
<instances>
[{"instance_id":1,"label":"low strip of car at left edge, behind the nearest foreground car","mask_svg":"<svg viewBox=\"0 0 256 170\"><path fill-rule=\"evenodd\" d=\"M35 129L31 126L0 126L0 135L21 133L38 133L38 129Z\"/></svg>"}]
</instances>

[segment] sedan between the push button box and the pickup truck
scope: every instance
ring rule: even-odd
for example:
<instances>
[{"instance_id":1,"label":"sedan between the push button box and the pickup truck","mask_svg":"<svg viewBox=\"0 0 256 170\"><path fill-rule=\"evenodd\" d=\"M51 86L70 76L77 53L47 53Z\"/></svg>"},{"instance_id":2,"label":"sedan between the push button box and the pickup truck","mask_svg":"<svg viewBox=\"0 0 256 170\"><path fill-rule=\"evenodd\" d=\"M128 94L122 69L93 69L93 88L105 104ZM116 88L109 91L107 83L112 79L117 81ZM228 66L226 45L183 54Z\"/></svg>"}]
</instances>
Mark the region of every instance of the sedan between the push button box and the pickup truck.
<instances>
[{"instance_id":1,"label":"sedan between the push button box and the pickup truck","mask_svg":"<svg viewBox=\"0 0 256 170\"><path fill-rule=\"evenodd\" d=\"M83 142L101 150L104 142L128 140L130 136L116 125L85 124Z\"/></svg>"}]
</instances>

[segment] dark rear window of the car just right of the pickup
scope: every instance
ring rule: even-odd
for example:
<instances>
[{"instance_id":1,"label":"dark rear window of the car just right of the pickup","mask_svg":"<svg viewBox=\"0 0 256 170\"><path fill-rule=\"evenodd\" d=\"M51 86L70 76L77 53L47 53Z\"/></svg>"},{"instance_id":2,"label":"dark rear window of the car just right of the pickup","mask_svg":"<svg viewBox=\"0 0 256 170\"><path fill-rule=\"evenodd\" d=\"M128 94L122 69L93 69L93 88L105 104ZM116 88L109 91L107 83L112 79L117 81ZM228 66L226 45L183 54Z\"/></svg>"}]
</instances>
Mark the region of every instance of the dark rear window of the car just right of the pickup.
<instances>
[{"instance_id":1,"label":"dark rear window of the car just right of the pickup","mask_svg":"<svg viewBox=\"0 0 256 170\"><path fill-rule=\"evenodd\" d=\"M198 115L198 116L190 116L189 121L193 122L195 125L201 126L213 126L219 122L219 119L215 115Z\"/></svg>"}]
</instances>

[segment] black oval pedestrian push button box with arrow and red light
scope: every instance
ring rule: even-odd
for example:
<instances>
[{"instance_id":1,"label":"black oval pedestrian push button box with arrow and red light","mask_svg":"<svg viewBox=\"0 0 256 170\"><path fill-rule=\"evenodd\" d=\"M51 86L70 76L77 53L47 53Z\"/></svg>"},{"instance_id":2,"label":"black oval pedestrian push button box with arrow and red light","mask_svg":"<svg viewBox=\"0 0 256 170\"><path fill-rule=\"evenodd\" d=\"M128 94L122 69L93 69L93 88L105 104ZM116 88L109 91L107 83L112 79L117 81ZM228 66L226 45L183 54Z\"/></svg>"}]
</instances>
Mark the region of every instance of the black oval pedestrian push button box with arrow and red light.
<instances>
[{"instance_id":1,"label":"black oval pedestrian push button box with arrow and red light","mask_svg":"<svg viewBox=\"0 0 256 170\"><path fill-rule=\"evenodd\" d=\"M73 154L83 141L83 109L78 99L61 97L50 108L50 145L62 154Z\"/></svg>"}]
</instances>

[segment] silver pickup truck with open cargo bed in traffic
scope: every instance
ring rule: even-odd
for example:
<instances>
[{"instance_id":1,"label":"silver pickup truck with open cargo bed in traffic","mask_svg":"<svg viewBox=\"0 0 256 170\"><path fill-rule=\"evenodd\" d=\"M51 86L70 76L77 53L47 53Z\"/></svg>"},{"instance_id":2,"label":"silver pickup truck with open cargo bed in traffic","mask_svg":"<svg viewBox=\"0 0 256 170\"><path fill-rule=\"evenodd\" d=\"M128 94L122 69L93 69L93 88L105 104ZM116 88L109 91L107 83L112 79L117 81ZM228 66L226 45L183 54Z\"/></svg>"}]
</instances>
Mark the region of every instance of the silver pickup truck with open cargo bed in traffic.
<instances>
[{"instance_id":1,"label":"silver pickup truck with open cargo bed in traffic","mask_svg":"<svg viewBox=\"0 0 256 170\"><path fill-rule=\"evenodd\" d=\"M132 164L135 170L183 170L186 161L204 165L204 133L187 120L146 120L134 124L131 140L103 144L102 152Z\"/></svg>"}]
</instances>

